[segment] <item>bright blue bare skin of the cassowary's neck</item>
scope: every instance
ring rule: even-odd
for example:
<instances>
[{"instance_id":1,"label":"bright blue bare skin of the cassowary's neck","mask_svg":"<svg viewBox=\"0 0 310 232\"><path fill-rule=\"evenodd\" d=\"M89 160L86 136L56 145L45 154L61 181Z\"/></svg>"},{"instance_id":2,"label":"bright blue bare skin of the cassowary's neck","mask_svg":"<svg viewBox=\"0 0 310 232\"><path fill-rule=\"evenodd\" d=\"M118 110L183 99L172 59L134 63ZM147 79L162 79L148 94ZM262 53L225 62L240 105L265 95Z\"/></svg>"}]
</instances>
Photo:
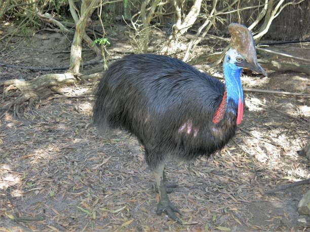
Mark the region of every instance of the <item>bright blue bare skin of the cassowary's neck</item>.
<instances>
[{"instance_id":1,"label":"bright blue bare skin of the cassowary's neck","mask_svg":"<svg viewBox=\"0 0 310 232\"><path fill-rule=\"evenodd\" d=\"M240 79L242 68L235 64L224 62L223 72L227 92L227 106L230 99L238 106L239 99L243 102L243 90Z\"/></svg>"}]
</instances>

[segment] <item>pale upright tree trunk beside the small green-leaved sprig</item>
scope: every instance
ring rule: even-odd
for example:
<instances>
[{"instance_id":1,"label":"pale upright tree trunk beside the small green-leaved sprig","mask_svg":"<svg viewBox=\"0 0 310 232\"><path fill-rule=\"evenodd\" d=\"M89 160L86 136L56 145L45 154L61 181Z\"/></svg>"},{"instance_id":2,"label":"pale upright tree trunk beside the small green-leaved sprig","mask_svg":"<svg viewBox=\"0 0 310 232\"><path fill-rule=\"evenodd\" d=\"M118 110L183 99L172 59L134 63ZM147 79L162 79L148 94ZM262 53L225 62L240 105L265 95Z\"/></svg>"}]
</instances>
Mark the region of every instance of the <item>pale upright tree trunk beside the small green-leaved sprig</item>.
<instances>
[{"instance_id":1,"label":"pale upright tree trunk beside the small green-leaved sprig","mask_svg":"<svg viewBox=\"0 0 310 232\"><path fill-rule=\"evenodd\" d=\"M75 33L71 45L70 68L68 71L72 72L73 74L80 72L80 65L82 60L82 38L85 35L87 20L96 9L98 2L99 0L82 1L81 17L75 25ZM73 0L69 0L69 4L72 5L72 9L74 9Z\"/></svg>"}]
</instances>

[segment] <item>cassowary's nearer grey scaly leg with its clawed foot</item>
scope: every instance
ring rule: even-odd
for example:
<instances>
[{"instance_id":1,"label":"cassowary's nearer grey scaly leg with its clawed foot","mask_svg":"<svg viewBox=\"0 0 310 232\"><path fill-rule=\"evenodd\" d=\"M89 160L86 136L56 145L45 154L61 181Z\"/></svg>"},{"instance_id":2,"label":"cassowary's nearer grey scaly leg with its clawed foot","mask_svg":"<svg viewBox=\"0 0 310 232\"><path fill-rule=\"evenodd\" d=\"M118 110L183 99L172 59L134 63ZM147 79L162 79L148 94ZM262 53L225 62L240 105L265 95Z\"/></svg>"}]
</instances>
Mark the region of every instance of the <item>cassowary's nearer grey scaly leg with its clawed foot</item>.
<instances>
[{"instance_id":1,"label":"cassowary's nearer grey scaly leg with its clawed foot","mask_svg":"<svg viewBox=\"0 0 310 232\"><path fill-rule=\"evenodd\" d=\"M175 215L175 212L181 215L181 212L170 202L166 185L164 182L164 164L158 165L154 170L154 176L156 178L156 183L158 186L159 194L160 194L160 201L157 205L156 213L161 215L162 212L165 212L171 219L179 222L182 224L180 218Z\"/></svg>"}]
</instances>

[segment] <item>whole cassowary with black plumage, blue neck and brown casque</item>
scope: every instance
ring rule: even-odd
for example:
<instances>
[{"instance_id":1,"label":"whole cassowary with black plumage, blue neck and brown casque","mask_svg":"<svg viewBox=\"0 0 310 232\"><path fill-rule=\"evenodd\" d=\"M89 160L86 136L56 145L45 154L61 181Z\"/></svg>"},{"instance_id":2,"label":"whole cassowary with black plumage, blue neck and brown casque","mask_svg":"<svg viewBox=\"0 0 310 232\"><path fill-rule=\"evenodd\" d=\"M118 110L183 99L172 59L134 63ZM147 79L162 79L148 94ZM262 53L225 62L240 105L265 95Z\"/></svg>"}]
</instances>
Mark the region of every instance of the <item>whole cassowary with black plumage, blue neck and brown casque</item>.
<instances>
[{"instance_id":1,"label":"whole cassowary with black plumage, blue neck and brown casque","mask_svg":"<svg viewBox=\"0 0 310 232\"><path fill-rule=\"evenodd\" d=\"M235 23L228 29L232 47L223 62L225 83L180 60L143 54L114 62L95 92L94 124L137 136L160 193L157 213L180 223L167 195L173 185L166 183L165 161L187 161L223 148L243 117L242 69L266 75L251 32Z\"/></svg>"}]
</instances>

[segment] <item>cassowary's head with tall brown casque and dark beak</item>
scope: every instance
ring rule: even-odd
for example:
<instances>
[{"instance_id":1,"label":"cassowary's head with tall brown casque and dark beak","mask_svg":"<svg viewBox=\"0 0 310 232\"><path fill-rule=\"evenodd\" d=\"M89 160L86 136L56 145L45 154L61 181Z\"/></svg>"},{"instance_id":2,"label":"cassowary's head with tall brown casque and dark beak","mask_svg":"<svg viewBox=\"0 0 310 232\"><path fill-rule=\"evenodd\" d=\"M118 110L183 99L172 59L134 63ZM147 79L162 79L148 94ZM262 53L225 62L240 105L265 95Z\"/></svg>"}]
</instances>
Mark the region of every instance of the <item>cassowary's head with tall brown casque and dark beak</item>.
<instances>
[{"instance_id":1,"label":"cassowary's head with tall brown casque and dark beak","mask_svg":"<svg viewBox=\"0 0 310 232\"><path fill-rule=\"evenodd\" d=\"M231 48L226 53L224 63L251 69L267 76L257 62L255 42L248 28L241 24L231 23L228 30L231 34Z\"/></svg>"}]
</instances>

